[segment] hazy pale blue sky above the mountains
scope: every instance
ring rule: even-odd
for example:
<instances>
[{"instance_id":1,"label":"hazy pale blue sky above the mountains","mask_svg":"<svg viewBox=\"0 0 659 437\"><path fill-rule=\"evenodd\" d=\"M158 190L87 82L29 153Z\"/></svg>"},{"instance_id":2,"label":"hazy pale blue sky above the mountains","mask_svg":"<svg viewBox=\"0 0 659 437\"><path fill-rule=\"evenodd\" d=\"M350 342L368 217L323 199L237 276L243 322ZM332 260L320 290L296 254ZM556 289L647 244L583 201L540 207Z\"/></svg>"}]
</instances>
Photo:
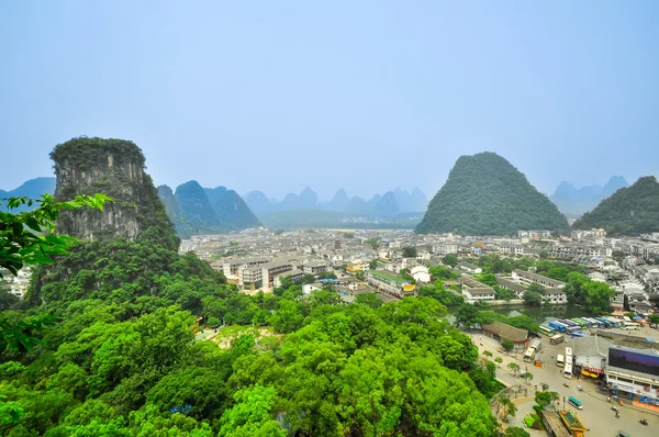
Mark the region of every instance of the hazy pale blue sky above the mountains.
<instances>
[{"instance_id":1,"label":"hazy pale blue sky above the mountains","mask_svg":"<svg viewBox=\"0 0 659 437\"><path fill-rule=\"evenodd\" d=\"M496 152L540 191L659 173L659 1L2 1L0 188L78 135L156 183L438 190Z\"/></svg>"}]
</instances>

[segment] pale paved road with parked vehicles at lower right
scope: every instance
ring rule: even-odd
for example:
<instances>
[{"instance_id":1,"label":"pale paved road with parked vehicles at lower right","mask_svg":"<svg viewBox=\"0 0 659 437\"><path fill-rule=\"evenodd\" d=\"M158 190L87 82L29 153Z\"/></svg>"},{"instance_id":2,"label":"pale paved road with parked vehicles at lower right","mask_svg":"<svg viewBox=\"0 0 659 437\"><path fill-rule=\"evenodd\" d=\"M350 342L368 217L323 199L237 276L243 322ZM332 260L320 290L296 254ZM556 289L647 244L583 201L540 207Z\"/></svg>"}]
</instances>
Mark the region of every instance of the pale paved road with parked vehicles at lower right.
<instances>
[{"instance_id":1,"label":"pale paved road with parked vehicles at lower right","mask_svg":"<svg viewBox=\"0 0 659 437\"><path fill-rule=\"evenodd\" d=\"M659 337L658 330L650 328L646 328L646 330L647 332L643 333L644 336ZM628 332L626 333L628 334ZM637 333L637 335L640 336L641 333ZM509 362L516 362L522 371L524 371L525 368L528 368L528 371L534 376L529 384L529 389L532 389L529 390L529 395L533 395L536 384L538 390L541 390L540 382L546 382L549 384L550 391L558 392L561 396L561 407L562 396L566 397L566 401L568 396L574 396L581 401L583 404L583 410L578 412L578 416L581 422L588 428L590 428L590 433L587 435L597 437L615 436L618 429L623 429L634 437L652 436L656 435L655 433L659 434L659 432L657 432L657 429L659 429L659 416L656 414L640 412L626 405L618 405L621 417L615 418L615 413L611 410L612 404L610 404L606 400L607 396L596 392L595 380L583 378L572 378L572 380L568 380L562 377L562 369L556 366L555 360L558 354L565 354L566 346L573 348L571 339L567 339L566 343L560 345L549 345L549 339L547 337L543 337L543 350L538 358L544 360L545 366L538 368L524 362L522 359L522 352L517 352L516 356L506 356L499 352L498 349L500 348L500 345L492 338L488 338L487 336L479 334L472 334L471 336L473 338L473 343L479 347L481 355L483 350L490 350L494 357L503 358L504 362L501 365L501 368L498 369L498 377L504 382L511 384L518 383L518 379L511 374L511 371L506 368ZM480 346L481 343L483 346ZM551 359L551 355L554 355L554 359ZM569 384L569 388L565 388L562 385L566 382ZM522 383L526 384L525 382ZM577 389L578 384L583 386L582 392ZM529 403L529 405L533 405L533 403ZM524 405L524 411L528 410L530 407L529 405ZM566 406L570 408L570 405L568 405L567 402ZM523 411L522 407L520 411ZM649 423L649 426L641 425L638 422L641 418L646 418Z\"/></svg>"}]
</instances>

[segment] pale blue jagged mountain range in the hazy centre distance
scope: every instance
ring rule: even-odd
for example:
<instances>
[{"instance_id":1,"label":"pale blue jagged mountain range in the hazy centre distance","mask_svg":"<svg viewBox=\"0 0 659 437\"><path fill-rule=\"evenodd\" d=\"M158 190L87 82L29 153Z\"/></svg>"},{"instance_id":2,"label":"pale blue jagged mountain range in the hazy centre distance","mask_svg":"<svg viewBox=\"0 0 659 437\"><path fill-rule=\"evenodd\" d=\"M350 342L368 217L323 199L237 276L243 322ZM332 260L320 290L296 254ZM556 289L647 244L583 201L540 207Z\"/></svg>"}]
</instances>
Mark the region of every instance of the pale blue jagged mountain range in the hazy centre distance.
<instances>
[{"instance_id":1,"label":"pale blue jagged mountain range in the hazy centre distance","mask_svg":"<svg viewBox=\"0 0 659 437\"><path fill-rule=\"evenodd\" d=\"M282 212L282 211L311 211L322 210L339 213L393 216L399 213L424 212L427 208L427 199L418 189L412 192L396 188L384 194L375 194L370 200L359 197L350 198L345 189L339 189L334 198L327 202L319 202L317 194L309 187L300 194L289 193L281 202L268 198L261 191L250 191L244 197L247 205L257 215Z\"/></svg>"}]
</instances>

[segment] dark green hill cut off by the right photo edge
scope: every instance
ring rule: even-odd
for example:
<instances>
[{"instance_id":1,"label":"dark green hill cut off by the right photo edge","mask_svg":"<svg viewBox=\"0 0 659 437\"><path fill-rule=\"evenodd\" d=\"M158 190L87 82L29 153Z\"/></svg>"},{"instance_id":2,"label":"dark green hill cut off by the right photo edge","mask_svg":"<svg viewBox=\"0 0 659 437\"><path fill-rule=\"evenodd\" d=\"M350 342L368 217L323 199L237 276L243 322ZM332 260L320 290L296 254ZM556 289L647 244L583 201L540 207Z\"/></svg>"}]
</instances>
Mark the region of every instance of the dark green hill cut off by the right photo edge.
<instances>
[{"instance_id":1,"label":"dark green hill cut off by the right photo edge","mask_svg":"<svg viewBox=\"0 0 659 437\"><path fill-rule=\"evenodd\" d=\"M572 225L576 229L604 227L610 235L659 232L659 183L654 176L621 188Z\"/></svg>"}]
</instances>

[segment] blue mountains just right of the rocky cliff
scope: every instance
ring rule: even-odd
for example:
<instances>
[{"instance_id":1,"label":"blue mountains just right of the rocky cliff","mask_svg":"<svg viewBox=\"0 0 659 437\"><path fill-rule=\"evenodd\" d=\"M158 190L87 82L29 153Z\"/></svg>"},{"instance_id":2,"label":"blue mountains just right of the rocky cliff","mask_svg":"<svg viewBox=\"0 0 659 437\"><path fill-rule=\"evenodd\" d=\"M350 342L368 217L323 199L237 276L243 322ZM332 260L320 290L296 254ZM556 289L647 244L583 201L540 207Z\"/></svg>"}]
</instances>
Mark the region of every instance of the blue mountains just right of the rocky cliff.
<instances>
[{"instance_id":1,"label":"blue mountains just right of the rocky cliff","mask_svg":"<svg viewBox=\"0 0 659 437\"><path fill-rule=\"evenodd\" d=\"M158 187L158 195L181 236L224 233L261 226L245 201L225 187L202 188L196 180Z\"/></svg>"}]
</instances>

